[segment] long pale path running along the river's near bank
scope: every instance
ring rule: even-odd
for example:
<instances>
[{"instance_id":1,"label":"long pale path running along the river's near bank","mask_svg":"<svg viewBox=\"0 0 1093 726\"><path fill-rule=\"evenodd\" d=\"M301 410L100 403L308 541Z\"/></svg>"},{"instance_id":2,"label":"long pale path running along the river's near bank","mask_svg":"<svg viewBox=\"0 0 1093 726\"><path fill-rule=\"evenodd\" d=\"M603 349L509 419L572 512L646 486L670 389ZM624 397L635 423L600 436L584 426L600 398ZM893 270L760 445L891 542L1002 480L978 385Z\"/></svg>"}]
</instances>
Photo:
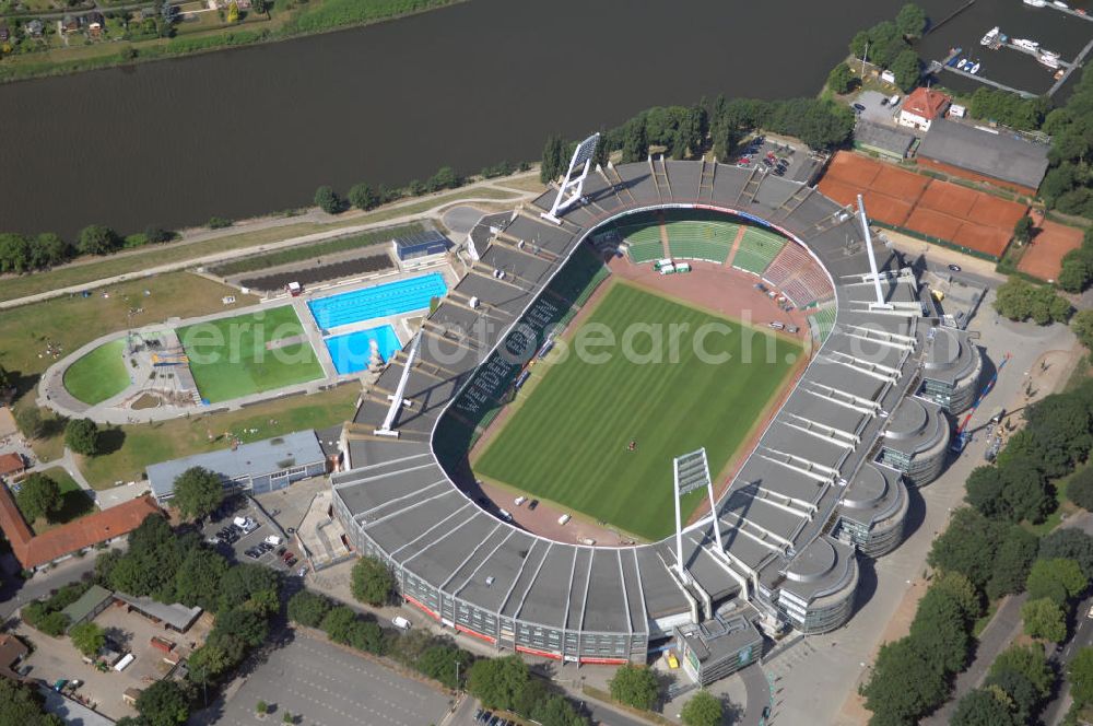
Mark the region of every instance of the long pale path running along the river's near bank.
<instances>
[{"instance_id":1,"label":"long pale path running along the river's near bank","mask_svg":"<svg viewBox=\"0 0 1093 726\"><path fill-rule=\"evenodd\" d=\"M528 175L520 175L520 176L528 176ZM519 191L517 189L512 189L509 187L505 187L503 185L503 183L504 183L504 179L492 179L490 182L480 182L480 183L477 183L474 185L470 185L468 187L465 187L465 189L475 189L475 188L481 188L481 189L484 189L484 188L497 189L497 190L501 190L501 191L506 191L506 192L512 194L513 197L509 198L509 199L494 199L494 198L490 198L490 197L469 197L469 198L461 198L461 199L445 199L443 196L438 195L437 196L436 207L433 207L431 209L426 209L424 211L410 212L410 213L407 213L407 214L403 214L403 215L399 215L399 216L386 219L386 220L383 220L380 222L369 222L369 223L363 223L363 224L354 224L354 225L341 226L341 227L338 227L338 229L334 229L334 230L327 230L327 231L324 231L324 232L316 232L314 234L307 234L307 235L303 235L303 236L299 236L299 237L293 237L291 239L284 239L282 242L266 243L266 244L261 244L261 245L257 245L256 244L252 247L243 247L243 248L239 248L239 249L233 249L233 250L228 250L228 251L224 251L224 253L213 253L211 255L197 256L197 257L193 257L193 258L190 258L190 259L186 259L186 260L179 260L179 261L176 261L176 262L168 262L166 265L152 266L152 267L145 268L145 269L140 270L140 271L128 272L128 273L125 273L125 274L116 274L116 276L111 276L111 277L107 277L107 278L102 278L102 279L98 279L98 280L93 280L93 281L89 281L89 282L82 282L80 284L69 285L69 286L66 286L66 288L57 288L57 289L49 290L47 292L37 293L37 294L34 294L34 295L26 295L24 297L16 297L14 300L2 301L2 302L0 302L0 309L8 309L8 308L12 308L12 307L19 307L20 305L27 305L30 303L37 303L37 302L42 302L44 300L50 300L52 297L61 297L61 296L64 296L64 295L71 295L71 294L80 293L80 292L82 292L84 290L93 290L95 288L102 288L104 285L109 285L109 284L117 284L119 282L125 282L126 280L145 278L145 277L149 277L149 276L152 276L152 274L161 274L161 273L164 273L164 272L176 272L178 270L185 270L185 269L188 269L188 268L191 268L191 267L201 267L201 266L209 266L209 265L216 265L216 264L221 264L221 262L226 262L226 261L230 261L230 260L233 260L233 259L237 259L237 258L240 258L240 257L247 257L247 256L254 255L256 251L267 253L267 251L272 251L272 250L277 250L277 249L283 249L283 248L286 248L286 247L294 247L294 246L297 246L297 245L306 245L306 244L309 244L309 243L320 242L322 239L329 239L329 238L332 238L332 237L340 237L340 236L344 236L344 235L349 235L349 234L356 234L359 232L368 232L368 231L372 231L372 230L379 230L379 229L383 229L383 227L397 226L399 224L407 224L409 222L413 222L415 220L421 220L423 218L439 220L440 216L442 216L443 210L447 209L448 207L451 207L453 204L468 204L468 203L475 203L477 202L477 203L504 203L504 204L513 204L513 206L515 206L517 203L526 202L526 201L529 201L531 199L534 199L536 197L539 196L537 192ZM450 192L449 192L449 195L450 195ZM400 207L409 207L411 204L421 203L421 201L422 201L422 199L411 199L411 200L407 200L406 202L400 202L398 204L395 204L391 208L392 209L398 209ZM318 215L322 215L322 218L321 219L315 219ZM301 221L305 221L305 222L306 221L320 221L320 222L330 223L330 222L336 221L337 219L338 218L329 215L329 214L326 214L325 212L321 212L319 210L312 210L312 211L309 211L309 212L307 212L307 213L305 213L305 214L303 214L301 216L293 216L293 218L287 218L287 219L283 219L283 218L263 219L263 220L260 220L258 222L254 222L251 224L247 224L245 226L244 225L239 225L239 226L236 226L236 227L228 227L226 231L224 231L224 230L216 230L216 231L196 232L193 234L187 233L186 238L185 238L184 242L175 243L175 244L183 244L183 245L185 245L185 244L193 244L193 243L197 243L197 242L204 242L204 241L208 241L208 239L215 239L215 238L220 238L220 237L232 236L232 235L238 234L240 231L243 231L243 232L255 232L255 231L259 231L259 230L272 229L272 227L278 227L278 226L285 226L285 225L290 225L290 224L297 224ZM257 247L257 250L255 249L255 247ZM133 254L149 254L149 253L146 250L142 250L141 253L133 253ZM149 255L149 259L150 260L154 259L154 256L153 255ZM99 261L99 260L80 261L80 262L73 262L72 265L86 265L86 264L90 264L91 261ZM66 267L68 267L68 266L66 266ZM61 269L61 268L58 268L58 269Z\"/></svg>"}]
</instances>

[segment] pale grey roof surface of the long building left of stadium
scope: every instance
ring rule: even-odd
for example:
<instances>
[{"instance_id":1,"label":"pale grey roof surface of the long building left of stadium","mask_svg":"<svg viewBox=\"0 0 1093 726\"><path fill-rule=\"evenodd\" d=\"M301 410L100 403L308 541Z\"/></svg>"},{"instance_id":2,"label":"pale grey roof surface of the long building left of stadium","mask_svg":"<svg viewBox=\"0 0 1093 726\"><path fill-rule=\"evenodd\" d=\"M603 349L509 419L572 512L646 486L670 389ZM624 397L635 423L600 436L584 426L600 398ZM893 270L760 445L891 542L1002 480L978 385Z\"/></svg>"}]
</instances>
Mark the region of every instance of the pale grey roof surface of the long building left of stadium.
<instances>
[{"instance_id":1,"label":"pale grey roof surface of the long building left of stadium","mask_svg":"<svg viewBox=\"0 0 1093 726\"><path fill-rule=\"evenodd\" d=\"M192 467L209 469L219 473L225 482L231 482L325 460L326 455L315 432L297 431L243 444L234 450L224 448L153 464L148 468L148 480L152 485L152 493L158 499L165 499L174 494L175 479Z\"/></svg>"}]
</instances>

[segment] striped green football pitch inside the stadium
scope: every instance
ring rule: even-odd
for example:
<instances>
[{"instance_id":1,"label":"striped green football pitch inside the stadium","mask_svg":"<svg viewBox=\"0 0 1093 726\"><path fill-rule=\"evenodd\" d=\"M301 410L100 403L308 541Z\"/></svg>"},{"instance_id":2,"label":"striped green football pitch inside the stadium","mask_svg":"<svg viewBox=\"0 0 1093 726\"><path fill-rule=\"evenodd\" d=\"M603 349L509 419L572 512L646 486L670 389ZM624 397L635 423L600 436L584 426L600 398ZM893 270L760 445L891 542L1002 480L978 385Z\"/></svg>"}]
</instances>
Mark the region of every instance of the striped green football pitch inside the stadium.
<instances>
[{"instance_id":1,"label":"striped green football pitch inside the stadium","mask_svg":"<svg viewBox=\"0 0 1093 726\"><path fill-rule=\"evenodd\" d=\"M695 331L718 323L730 331L705 336L703 346L731 358L700 360ZM630 326L662 325L665 343L657 348L666 351L663 362L631 362L621 347L596 349L611 352L599 364L579 360L573 350L553 362L555 352L532 368L528 393L513 403L519 409L473 468L485 479L637 537L661 539L675 527L672 458L705 446L717 477L786 384L801 347L628 284L611 289L581 327L593 324L607 326L616 340ZM679 336L678 362L667 353L670 324L687 326ZM634 337L634 351L653 348L648 335ZM745 353L752 362L744 362ZM703 495L696 491L683 499L684 518Z\"/></svg>"}]
</instances>

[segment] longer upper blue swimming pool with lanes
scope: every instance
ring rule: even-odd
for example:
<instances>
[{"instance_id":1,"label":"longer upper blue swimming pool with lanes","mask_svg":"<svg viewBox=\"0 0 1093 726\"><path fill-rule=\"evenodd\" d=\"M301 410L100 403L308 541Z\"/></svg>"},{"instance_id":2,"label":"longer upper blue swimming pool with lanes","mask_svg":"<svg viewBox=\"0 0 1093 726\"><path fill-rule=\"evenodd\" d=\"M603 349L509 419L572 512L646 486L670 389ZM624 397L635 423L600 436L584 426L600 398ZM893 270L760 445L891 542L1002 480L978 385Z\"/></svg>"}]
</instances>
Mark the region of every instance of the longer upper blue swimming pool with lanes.
<instances>
[{"instance_id":1,"label":"longer upper blue swimming pool with lanes","mask_svg":"<svg viewBox=\"0 0 1093 726\"><path fill-rule=\"evenodd\" d=\"M307 307L319 328L329 330L340 325L424 309L433 297L443 297L447 293L444 276L431 272L420 278L319 297L307 303Z\"/></svg>"}]
</instances>

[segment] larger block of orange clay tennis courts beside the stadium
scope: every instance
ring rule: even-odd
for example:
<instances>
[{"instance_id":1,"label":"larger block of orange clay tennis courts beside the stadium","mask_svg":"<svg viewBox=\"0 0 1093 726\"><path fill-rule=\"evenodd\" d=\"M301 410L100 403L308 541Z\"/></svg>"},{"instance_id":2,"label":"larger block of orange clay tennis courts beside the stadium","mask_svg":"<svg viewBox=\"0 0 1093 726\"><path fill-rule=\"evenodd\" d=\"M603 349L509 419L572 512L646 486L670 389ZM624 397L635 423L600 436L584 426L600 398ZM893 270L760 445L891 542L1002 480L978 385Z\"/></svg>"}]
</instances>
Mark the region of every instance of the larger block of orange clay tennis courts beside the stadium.
<instances>
[{"instance_id":1,"label":"larger block of orange clay tennis courts beside the stadium","mask_svg":"<svg viewBox=\"0 0 1093 726\"><path fill-rule=\"evenodd\" d=\"M1025 204L845 151L835 154L820 191L841 204L856 206L861 195L875 222L996 260L1029 211Z\"/></svg>"}]
</instances>

